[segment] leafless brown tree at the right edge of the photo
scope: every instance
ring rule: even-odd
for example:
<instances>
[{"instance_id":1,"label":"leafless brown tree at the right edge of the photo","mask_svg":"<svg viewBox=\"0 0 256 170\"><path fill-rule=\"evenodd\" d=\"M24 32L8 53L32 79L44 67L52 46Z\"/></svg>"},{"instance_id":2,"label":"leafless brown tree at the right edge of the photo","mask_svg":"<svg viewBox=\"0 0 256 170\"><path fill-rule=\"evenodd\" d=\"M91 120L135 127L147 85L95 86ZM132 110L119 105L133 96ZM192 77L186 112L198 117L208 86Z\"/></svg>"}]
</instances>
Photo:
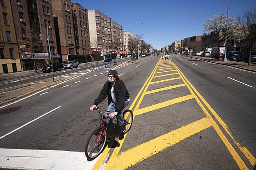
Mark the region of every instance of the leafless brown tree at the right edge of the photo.
<instances>
[{"instance_id":1,"label":"leafless brown tree at the right edge of the photo","mask_svg":"<svg viewBox=\"0 0 256 170\"><path fill-rule=\"evenodd\" d=\"M256 9L245 11L242 17L238 16L237 27L241 32L242 39L249 47L248 65L250 65L252 46L256 42Z\"/></svg>"}]
</instances>

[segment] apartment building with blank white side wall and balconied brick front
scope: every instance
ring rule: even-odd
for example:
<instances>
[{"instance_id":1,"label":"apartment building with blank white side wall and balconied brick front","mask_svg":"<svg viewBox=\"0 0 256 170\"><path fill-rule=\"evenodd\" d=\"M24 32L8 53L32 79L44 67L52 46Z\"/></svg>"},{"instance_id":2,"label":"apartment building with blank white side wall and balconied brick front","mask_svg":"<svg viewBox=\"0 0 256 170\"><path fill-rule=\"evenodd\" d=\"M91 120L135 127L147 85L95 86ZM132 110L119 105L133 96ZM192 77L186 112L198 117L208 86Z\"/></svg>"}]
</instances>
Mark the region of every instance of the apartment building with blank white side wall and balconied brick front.
<instances>
[{"instance_id":1,"label":"apartment building with blank white side wall and balconied brick front","mask_svg":"<svg viewBox=\"0 0 256 170\"><path fill-rule=\"evenodd\" d=\"M88 19L90 47L93 55L96 55L94 51L100 50L101 56L106 57L123 50L123 26L112 21L112 18L99 10L88 10Z\"/></svg>"}]
</instances>

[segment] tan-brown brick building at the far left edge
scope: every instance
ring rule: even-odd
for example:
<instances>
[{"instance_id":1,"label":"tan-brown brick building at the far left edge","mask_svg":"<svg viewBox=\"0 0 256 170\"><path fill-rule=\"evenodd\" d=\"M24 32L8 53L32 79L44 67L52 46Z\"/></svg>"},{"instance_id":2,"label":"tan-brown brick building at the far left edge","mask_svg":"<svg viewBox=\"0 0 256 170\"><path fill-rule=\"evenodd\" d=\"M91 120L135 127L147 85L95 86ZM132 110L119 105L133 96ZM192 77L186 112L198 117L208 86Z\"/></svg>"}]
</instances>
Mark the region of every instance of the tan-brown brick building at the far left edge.
<instances>
[{"instance_id":1,"label":"tan-brown brick building at the far left edge","mask_svg":"<svg viewBox=\"0 0 256 170\"><path fill-rule=\"evenodd\" d=\"M15 5L17 8L17 2ZM21 71L11 10L10 0L0 0L0 73Z\"/></svg>"}]
</instances>

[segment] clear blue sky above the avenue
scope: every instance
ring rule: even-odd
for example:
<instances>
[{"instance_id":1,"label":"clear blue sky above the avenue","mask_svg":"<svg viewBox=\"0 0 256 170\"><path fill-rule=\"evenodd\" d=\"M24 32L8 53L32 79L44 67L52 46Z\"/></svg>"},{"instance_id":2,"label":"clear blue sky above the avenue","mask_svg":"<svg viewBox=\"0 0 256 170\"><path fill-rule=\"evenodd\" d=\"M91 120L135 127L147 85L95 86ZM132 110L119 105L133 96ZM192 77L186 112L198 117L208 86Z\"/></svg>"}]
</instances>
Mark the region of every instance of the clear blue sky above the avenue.
<instances>
[{"instance_id":1,"label":"clear blue sky above the avenue","mask_svg":"<svg viewBox=\"0 0 256 170\"><path fill-rule=\"evenodd\" d=\"M227 3L230 0L226 0ZM205 19L225 12L224 0L71 0L104 15L160 49L174 40L204 33ZM256 8L256 0L232 0L230 15ZM142 24L143 23L143 24Z\"/></svg>"}]
</instances>

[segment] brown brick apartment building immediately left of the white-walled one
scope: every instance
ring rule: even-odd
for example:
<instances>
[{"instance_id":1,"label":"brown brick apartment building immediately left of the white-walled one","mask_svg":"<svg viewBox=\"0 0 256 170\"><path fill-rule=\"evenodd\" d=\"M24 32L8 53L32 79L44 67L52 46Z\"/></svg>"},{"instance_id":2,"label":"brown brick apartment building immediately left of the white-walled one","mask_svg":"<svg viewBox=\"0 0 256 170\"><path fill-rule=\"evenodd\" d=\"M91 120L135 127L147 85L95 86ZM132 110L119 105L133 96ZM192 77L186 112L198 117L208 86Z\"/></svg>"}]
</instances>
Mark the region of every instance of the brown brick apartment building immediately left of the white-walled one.
<instances>
[{"instance_id":1,"label":"brown brick apartment building immediately left of the white-walled one","mask_svg":"<svg viewBox=\"0 0 256 170\"><path fill-rule=\"evenodd\" d=\"M57 52L62 61L85 60L90 54L87 9L70 0L52 1Z\"/></svg>"}]
</instances>

